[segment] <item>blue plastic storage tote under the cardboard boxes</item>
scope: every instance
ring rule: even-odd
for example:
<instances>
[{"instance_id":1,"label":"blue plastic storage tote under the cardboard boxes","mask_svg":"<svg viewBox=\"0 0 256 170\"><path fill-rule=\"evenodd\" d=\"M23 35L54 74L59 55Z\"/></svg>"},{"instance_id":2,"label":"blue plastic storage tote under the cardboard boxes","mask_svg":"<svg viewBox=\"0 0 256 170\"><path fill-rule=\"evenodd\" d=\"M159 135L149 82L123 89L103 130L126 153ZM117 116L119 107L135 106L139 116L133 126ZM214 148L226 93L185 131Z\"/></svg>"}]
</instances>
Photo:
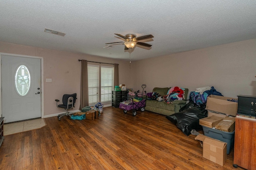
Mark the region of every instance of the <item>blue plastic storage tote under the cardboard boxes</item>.
<instances>
[{"instance_id":1,"label":"blue plastic storage tote under the cardboard boxes","mask_svg":"<svg viewBox=\"0 0 256 170\"><path fill-rule=\"evenodd\" d=\"M212 129L209 127L202 126L204 130L204 135L211 137L213 139L218 139L222 142L227 143L227 154L230 153L230 150L234 147L235 141L235 131L233 132L224 132L217 129Z\"/></svg>"}]
</instances>

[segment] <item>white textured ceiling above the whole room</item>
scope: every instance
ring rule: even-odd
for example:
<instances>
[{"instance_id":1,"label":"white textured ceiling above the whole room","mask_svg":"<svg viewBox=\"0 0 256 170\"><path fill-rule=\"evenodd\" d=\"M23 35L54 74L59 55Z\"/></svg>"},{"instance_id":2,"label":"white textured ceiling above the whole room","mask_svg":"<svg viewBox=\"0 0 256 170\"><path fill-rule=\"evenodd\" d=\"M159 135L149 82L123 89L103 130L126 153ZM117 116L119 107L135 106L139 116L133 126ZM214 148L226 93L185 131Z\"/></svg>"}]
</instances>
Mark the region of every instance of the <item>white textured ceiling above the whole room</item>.
<instances>
[{"instance_id":1,"label":"white textured ceiling above the whole room","mask_svg":"<svg viewBox=\"0 0 256 170\"><path fill-rule=\"evenodd\" d=\"M256 0L0 1L0 41L129 60L122 44L103 49L114 33L154 36L132 61L254 39Z\"/></svg>"}]
</instances>

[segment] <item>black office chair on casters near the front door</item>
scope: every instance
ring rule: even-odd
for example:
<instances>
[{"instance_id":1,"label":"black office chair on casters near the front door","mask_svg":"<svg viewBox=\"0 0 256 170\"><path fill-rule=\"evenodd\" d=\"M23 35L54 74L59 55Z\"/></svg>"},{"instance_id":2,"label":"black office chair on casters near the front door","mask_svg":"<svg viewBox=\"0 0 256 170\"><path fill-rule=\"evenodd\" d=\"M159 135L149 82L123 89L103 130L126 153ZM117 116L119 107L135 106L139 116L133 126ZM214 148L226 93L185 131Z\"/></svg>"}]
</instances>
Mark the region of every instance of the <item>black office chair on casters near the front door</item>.
<instances>
[{"instance_id":1,"label":"black office chair on casters near the front door","mask_svg":"<svg viewBox=\"0 0 256 170\"><path fill-rule=\"evenodd\" d=\"M68 110L72 109L73 107L75 107L76 104L76 93L74 94L64 94L62 97L62 103L63 104L59 104L58 102L60 102L60 100L56 99L56 106L62 109L66 110L66 113L62 113L58 115L58 119L60 120L60 117L64 116L64 115L70 115L70 113L68 112Z\"/></svg>"}]
</instances>

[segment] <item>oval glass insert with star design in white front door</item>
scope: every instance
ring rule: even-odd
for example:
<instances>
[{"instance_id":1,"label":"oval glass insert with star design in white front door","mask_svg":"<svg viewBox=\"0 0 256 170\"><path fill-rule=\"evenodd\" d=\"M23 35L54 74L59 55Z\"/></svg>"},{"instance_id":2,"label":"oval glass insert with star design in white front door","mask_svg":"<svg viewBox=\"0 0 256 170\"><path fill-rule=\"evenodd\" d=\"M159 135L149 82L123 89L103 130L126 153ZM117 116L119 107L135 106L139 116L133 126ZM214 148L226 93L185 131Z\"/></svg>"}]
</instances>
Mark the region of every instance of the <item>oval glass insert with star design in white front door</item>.
<instances>
[{"instance_id":1,"label":"oval glass insert with star design in white front door","mask_svg":"<svg viewBox=\"0 0 256 170\"><path fill-rule=\"evenodd\" d=\"M17 68L14 81L17 94L26 96L30 90L30 72L25 65Z\"/></svg>"}]
</instances>

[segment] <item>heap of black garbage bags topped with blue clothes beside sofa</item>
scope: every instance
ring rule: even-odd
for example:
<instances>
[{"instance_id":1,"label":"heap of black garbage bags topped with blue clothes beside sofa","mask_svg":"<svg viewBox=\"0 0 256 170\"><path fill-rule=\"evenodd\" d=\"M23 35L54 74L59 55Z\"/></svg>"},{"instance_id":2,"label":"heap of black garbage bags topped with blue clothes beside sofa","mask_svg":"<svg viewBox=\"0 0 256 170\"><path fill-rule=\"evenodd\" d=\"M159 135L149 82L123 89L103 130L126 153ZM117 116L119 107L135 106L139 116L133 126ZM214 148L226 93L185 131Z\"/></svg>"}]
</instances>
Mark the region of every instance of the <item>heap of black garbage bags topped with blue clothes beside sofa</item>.
<instances>
[{"instance_id":1,"label":"heap of black garbage bags topped with blue clothes beside sofa","mask_svg":"<svg viewBox=\"0 0 256 170\"><path fill-rule=\"evenodd\" d=\"M205 109L207 97L211 94L222 96L215 88L206 86L196 88L189 94L189 103L180 109L180 112L167 116L166 118L174 123L185 135L190 135L193 130L201 130L199 119L207 117L208 111Z\"/></svg>"}]
</instances>

